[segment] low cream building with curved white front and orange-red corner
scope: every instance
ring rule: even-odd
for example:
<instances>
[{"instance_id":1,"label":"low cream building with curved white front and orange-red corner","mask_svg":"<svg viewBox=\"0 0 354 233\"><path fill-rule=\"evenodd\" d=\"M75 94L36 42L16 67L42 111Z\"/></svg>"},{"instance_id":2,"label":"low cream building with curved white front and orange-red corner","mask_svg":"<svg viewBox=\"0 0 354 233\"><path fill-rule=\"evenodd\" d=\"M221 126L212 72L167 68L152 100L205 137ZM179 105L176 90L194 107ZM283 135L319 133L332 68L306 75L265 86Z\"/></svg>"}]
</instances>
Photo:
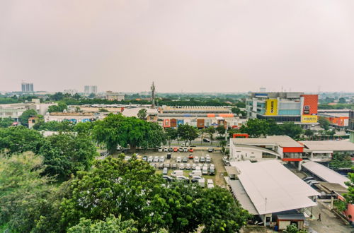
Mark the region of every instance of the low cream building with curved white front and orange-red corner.
<instances>
[{"instance_id":1,"label":"low cream building with curved white front and orange-red corner","mask_svg":"<svg viewBox=\"0 0 354 233\"><path fill-rule=\"evenodd\" d=\"M230 162L280 159L297 163L301 169L304 145L289 136L267 136L266 138L230 138Z\"/></svg>"}]
</instances>

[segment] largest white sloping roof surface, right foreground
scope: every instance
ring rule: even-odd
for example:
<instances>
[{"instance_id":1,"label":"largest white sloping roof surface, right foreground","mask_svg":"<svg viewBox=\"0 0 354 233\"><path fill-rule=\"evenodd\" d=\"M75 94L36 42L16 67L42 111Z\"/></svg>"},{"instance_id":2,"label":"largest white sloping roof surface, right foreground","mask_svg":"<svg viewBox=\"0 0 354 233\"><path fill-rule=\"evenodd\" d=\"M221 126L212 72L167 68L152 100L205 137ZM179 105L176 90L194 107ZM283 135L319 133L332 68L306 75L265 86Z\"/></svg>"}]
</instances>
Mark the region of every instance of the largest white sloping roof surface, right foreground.
<instances>
[{"instance_id":1,"label":"largest white sloping roof surface, right foreground","mask_svg":"<svg viewBox=\"0 0 354 233\"><path fill-rule=\"evenodd\" d=\"M319 193L277 160L235 162L239 180L260 215L316 205Z\"/></svg>"}]
</instances>

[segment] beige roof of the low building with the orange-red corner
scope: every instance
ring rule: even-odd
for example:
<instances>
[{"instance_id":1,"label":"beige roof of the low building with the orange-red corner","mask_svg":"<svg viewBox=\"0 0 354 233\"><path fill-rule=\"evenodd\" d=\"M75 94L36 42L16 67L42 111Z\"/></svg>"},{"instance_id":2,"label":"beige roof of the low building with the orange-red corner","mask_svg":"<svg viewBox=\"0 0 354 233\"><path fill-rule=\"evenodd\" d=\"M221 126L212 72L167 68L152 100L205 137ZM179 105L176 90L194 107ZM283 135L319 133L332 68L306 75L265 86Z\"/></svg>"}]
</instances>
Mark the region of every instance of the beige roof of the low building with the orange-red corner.
<instances>
[{"instance_id":1,"label":"beige roof of the low building with the orange-red corner","mask_svg":"<svg viewBox=\"0 0 354 233\"><path fill-rule=\"evenodd\" d=\"M302 148L303 145L297 143L289 136L267 136L267 138L231 138L234 145L263 145L263 144L278 144L280 147Z\"/></svg>"}]
</instances>

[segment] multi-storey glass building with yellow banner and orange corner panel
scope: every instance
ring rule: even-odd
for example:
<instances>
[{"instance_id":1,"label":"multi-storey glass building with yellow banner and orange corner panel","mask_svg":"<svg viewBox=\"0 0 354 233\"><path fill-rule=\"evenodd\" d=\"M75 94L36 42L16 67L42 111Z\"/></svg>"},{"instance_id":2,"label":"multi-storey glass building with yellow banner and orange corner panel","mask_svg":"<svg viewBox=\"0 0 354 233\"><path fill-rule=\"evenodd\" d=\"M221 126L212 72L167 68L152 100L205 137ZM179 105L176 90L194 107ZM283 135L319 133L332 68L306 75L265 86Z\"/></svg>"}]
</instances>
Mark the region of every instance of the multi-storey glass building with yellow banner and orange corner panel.
<instances>
[{"instance_id":1,"label":"multi-storey glass building with yellow banner and orange corner panel","mask_svg":"<svg viewBox=\"0 0 354 233\"><path fill-rule=\"evenodd\" d=\"M250 92L246 112L253 119L316 124L318 99L318 95L304 95L304 92Z\"/></svg>"}]
</instances>

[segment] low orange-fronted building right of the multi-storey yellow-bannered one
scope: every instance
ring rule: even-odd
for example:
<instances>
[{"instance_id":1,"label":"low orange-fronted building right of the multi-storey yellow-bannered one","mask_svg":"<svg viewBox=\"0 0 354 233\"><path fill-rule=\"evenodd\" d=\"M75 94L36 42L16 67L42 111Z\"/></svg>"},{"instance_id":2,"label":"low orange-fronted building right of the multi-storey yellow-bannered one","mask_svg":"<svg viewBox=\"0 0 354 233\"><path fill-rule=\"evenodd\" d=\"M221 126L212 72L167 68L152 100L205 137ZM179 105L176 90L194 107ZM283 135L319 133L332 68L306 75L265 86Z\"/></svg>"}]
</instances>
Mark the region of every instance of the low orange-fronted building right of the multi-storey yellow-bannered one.
<instances>
[{"instance_id":1,"label":"low orange-fronted building right of the multi-storey yellow-bannered one","mask_svg":"<svg viewBox=\"0 0 354 233\"><path fill-rule=\"evenodd\" d=\"M347 128L349 126L350 109L321 109L318 110L320 117L325 117L336 128Z\"/></svg>"}]
</instances>

